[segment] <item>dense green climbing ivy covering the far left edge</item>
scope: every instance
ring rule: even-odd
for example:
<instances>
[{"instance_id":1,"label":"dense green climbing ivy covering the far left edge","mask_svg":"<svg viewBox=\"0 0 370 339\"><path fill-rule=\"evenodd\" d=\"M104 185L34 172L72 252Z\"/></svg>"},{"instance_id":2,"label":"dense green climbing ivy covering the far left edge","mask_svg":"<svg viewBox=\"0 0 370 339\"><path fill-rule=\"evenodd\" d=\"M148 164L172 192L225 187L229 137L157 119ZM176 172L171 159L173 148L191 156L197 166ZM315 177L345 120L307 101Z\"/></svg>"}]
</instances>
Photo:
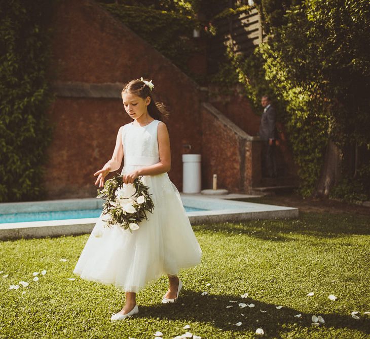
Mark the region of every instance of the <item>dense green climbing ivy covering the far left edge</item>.
<instances>
[{"instance_id":1,"label":"dense green climbing ivy covering the far left edge","mask_svg":"<svg viewBox=\"0 0 370 339\"><path fill-rule=\"evenodd\" d=\"M42 197L42 165L51 139L52 94L47 0L16 0L0 15L0 201Z\"/></svg>"}]
</instances>

